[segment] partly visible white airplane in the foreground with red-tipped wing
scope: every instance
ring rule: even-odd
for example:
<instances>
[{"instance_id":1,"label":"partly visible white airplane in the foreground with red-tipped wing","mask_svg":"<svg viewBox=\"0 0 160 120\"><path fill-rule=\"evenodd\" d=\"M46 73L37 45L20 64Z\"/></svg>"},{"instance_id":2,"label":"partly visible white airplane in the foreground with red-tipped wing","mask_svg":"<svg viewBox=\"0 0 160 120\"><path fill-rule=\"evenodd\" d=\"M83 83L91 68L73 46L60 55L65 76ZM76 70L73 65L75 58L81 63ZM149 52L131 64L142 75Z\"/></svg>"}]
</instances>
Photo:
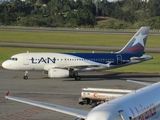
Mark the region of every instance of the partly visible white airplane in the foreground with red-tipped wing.
<instances>
[{"instance_id":1,"label":"partly visible white airplane in the foreground with red-tipped wing","mask_svg":"<svg viewBox=\"0 0 160 120\"><path fill-rule=\"evenodd\" d=\"M9 96L5 98L76 117L76 120L160 120L160 82L93 108L90 112Z\"/></svg>"}]
</instances>

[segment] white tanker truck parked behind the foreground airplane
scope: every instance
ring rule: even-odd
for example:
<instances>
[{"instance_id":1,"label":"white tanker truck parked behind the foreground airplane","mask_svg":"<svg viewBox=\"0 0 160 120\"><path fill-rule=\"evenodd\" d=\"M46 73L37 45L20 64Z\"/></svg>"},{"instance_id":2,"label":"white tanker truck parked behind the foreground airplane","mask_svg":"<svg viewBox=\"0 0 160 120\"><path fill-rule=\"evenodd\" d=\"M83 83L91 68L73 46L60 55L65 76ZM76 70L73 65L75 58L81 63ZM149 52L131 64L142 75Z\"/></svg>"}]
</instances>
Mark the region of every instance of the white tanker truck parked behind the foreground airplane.
<instances>
[{"instance_id":1,"label":"white tanker truck parked behind the foreground airplane","mask_svg":"<svg viewBox=\"0 0 160 120\"><path fill-rule=\"evenodd\" d=\"M101 103L121 97L133 91L134 90L82 88L81 97L79 98L79 104L92 105L92 107L95 107Z\"/></svg>"}]
</instances>

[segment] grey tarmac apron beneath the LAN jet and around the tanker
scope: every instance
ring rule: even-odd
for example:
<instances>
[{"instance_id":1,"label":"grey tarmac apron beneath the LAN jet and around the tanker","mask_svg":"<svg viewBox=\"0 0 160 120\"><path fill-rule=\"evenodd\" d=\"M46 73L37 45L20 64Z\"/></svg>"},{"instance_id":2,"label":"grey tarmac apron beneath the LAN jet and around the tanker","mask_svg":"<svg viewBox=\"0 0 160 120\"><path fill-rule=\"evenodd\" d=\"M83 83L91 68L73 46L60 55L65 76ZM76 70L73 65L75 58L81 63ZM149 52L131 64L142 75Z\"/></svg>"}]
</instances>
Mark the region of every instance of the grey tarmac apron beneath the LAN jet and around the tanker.
<instances>
[{"instance_id":1,"label":"grey tarmac apron beneath the LAN jet and around the tanker","mask_svg":"<svg viewBox=\"0 0 160 120\"><path fill-rule=\"evenodd\" d=\"M88 105L78 104L83 87L139 89L143 85L127 82L127 79L158 82L160 74L86 72L80 73L81 81L74 78L50 79L40 72L29 72L29 79L23 80L21 71L0 68L0 120L74 120L75 117L50 110L5 100L4 95L33 99L62 106L91 110Z\"/></svg>"}]
</instances>

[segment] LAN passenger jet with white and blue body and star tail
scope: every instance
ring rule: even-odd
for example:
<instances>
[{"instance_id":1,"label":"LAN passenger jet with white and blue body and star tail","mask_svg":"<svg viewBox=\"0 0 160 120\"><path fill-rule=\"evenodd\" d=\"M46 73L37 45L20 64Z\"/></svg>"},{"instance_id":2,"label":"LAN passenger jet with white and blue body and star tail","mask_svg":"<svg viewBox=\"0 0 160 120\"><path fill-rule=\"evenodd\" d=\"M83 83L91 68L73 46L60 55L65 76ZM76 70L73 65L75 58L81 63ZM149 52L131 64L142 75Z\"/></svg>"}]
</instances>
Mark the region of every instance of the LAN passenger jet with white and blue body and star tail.
<instances>
[{"instance_id":1,"label":"LAN passenger jet with white and blue body and star tail","mask_svg":"<svg viewBox=\"0 0 160 120\"><path fill-rule=\"evenodd\" d=\"M122 50L116 53L20 53L2 63L3 68L25 71L42 70L50 78L74 77L79 71L107 70L152 59L144 54L149 27L141 27Z\"/></svg>"}]
</instances>

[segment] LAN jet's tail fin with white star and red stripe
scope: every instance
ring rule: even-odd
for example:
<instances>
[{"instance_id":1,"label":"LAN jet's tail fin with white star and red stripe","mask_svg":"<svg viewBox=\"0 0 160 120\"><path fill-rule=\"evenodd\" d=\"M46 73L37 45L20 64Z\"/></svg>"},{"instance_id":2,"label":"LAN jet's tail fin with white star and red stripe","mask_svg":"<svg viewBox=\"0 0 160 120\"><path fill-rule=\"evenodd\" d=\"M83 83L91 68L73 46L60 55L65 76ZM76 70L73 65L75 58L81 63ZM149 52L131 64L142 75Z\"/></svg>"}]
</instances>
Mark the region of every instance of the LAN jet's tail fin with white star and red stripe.
<instances>
[{"instance_id":1,"label":"LAN jet's tail fin with white star and red stripe","mask_svg":"<svg viewBox=\"0 0 160 120\"><path fill-rule=\"evenodd\" d=\"M149 29L149 27L141 27L138 32L130 39L130 41L124 46L124 48L118 53L143 55Z\"/></svg>"}]
</instances>

